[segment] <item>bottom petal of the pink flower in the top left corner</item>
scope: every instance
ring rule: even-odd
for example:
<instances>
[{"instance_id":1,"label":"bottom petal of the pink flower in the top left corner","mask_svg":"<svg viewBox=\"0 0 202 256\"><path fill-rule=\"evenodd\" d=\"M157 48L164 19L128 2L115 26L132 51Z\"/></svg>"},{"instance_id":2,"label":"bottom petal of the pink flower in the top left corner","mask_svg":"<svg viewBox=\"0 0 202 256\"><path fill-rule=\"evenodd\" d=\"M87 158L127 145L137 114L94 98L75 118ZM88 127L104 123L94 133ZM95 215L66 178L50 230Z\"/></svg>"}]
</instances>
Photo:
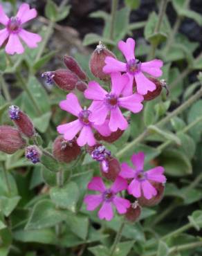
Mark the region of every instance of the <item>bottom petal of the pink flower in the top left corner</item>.
<instances>
[{"instance_id":1,"label":"bottom petal of the pink flower in the top left corner","mask_svg":"<svg viewBox=\"0 0 202 256\"><path fill-rule=\"evenodd\" d=\"M8 43L6 44L6 53L13 55L14 53L24 53L24 48L19 41L17 34L10 34L8 38Z\"/></svg>"}]
</instances>

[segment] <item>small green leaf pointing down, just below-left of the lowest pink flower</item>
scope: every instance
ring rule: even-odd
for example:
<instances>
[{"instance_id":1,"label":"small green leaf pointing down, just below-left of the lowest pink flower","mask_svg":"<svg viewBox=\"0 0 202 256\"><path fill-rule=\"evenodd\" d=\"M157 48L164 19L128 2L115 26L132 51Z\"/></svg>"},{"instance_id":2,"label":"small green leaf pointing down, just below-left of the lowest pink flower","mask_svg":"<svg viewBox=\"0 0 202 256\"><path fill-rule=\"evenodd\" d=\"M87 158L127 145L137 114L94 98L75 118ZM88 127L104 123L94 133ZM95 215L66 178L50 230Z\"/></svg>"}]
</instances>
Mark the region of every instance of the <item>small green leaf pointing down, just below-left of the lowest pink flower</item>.
<instances>
[{"instance_id":1,"label":"small green leaf pointing down, just below-left of the lowest pink flower","mask_svg":"<svg viewBox=\"0 0 202 256\"><path fill-rule=\"evenodd\" d=\"M89 231L89 219L87 217L82 214L74 215L68 213L66 215L66 223L77 237L83 240L86 239Z\"/></svg>"}]
</instances>

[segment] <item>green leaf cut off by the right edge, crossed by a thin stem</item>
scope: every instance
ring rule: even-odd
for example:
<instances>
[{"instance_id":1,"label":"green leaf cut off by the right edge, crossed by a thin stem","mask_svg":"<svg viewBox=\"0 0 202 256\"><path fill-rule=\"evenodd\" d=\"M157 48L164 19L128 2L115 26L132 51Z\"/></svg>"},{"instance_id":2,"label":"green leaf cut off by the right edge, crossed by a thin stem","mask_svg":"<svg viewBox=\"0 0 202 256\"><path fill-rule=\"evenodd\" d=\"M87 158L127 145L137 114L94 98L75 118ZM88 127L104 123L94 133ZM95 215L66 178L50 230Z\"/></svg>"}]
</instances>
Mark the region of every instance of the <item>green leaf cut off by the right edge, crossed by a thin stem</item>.
<instances>
[{"instance_id":1,"label":"green leaf cut off by the right edge, crossed by a thin stem","mask_svg":"<svg viewBox=\"0 0 202 256\"><path fill-rule=\"evenodd\" d=\"M198 100L194 104L192 104L192 107L190 108L190 111L188 112L187 120L189 124L191 122L194 122L196 118L199 118L202 116L202 100ZM197 125L194 125L189 130L190 135L194 139L195 142L199 142L201 140L201 133L202 133L202 121L198 122Z\"/></svg>"}]
</instances>

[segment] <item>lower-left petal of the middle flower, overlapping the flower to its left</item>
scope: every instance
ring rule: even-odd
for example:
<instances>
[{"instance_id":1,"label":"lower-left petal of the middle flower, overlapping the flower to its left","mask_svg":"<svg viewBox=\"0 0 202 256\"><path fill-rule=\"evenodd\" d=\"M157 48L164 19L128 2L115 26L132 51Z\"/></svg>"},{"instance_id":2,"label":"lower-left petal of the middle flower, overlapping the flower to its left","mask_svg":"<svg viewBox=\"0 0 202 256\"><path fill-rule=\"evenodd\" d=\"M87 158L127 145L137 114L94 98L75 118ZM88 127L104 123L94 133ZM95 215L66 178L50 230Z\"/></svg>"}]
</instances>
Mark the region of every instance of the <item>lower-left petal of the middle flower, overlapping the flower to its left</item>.
<instances>
[{"instance_id":1,"label":"lower-left petal of the middle flower, overlapping the flower to its left","mask_svg":"<svg viewBox=\"0 0 202 256\"><path fill-rule=\"evenodd\" d=\"M98 109L94 109L89 116L89 120L94 122L95 125L102 125L107 118L107 114L109 113L109 109L104 102L99 103L100 105L97 104Z\"/></svg>"}]
</instances>

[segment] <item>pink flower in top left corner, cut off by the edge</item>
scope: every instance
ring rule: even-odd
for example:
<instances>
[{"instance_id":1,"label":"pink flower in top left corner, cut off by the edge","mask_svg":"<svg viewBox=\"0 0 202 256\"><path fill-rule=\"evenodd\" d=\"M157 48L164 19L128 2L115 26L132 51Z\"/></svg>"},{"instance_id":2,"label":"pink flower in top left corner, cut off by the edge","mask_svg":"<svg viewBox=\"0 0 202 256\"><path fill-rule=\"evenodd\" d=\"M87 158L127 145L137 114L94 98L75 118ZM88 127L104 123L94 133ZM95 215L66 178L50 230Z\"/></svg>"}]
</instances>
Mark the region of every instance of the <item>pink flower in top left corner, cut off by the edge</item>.
<instances>
[{"instance_id":1,"label":"pink flower in top left corner, cut off by the edge","mask_svg":"<svg viewBox=\"0 0 202 256\"><path fill-rule=\"evenodd\" d=\"M30 19L34 19L36 16L37 11L34 8L30 9L28 3L22 3L17 15L10 19L3 11L2 6L0 6L0 24L6 26L6 28L0 30L0 47L3 42L8 39L6 44L6 53L10 55L13 55L14 53L24 53L24 47L22 46L19 38L21 38L29 48L37 47L37 43L42 40L42 37L35 33L30 33L22 28L24 23Z\"/></svg>"}]
</instances>

